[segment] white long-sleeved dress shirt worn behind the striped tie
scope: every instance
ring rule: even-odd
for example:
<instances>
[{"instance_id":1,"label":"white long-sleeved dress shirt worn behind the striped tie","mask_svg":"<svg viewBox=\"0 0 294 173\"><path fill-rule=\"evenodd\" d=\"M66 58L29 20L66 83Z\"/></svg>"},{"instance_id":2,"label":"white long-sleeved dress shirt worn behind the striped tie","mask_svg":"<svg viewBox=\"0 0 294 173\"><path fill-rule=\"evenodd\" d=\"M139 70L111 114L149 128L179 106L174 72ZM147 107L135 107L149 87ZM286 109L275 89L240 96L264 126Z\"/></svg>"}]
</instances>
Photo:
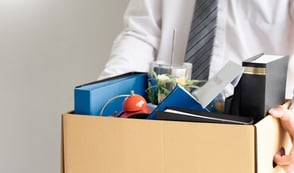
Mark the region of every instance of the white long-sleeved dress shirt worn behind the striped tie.
<instances>
[{"instance_id":1,"label":"white long-sleeved dress shirt worn behind the striped tie","mask_svg":"<svg viewBox=\"0 0 294 173\"><path fill-rule=\"evenodd\" d=\"M286 98L294 89L294 0L219 0L210 76L232 60L259 53L290 55ZM149 71L151 61L185 57L195 0L130 0L125 28L114 41L111 57L99 78L130 71Z\"/></svg>"}]
</instances>

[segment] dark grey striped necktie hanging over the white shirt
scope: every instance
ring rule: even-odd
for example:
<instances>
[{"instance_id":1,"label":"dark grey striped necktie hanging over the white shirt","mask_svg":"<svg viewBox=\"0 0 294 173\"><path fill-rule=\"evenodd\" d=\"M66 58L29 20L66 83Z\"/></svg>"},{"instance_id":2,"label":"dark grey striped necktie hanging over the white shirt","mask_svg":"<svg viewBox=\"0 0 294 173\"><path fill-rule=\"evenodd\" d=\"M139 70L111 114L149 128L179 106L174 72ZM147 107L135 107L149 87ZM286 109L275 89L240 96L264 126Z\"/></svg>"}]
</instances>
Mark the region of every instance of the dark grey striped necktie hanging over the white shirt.
<instances>
[{"instance_id":1,"label":"dark grey striped necktie hanging over the white shirt","mask_svg":"<svg viewBox=\"0 0 294 173\"><path fill-rule=\"evenodd\" d=\"M193 64L192 79L208 79L216 18L217 0L196 0L185 57Z\"/></svg>"}]
</instances>

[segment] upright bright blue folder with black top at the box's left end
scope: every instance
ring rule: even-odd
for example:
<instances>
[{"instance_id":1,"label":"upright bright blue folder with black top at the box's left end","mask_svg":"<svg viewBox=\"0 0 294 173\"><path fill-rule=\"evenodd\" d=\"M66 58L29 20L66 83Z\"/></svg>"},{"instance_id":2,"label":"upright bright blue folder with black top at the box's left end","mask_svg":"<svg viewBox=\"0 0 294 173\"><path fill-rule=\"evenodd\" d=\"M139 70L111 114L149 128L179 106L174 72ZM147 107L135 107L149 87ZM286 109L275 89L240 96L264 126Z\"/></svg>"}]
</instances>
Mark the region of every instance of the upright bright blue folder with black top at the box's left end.
<instances>
[{"instance_id":1,"label":"upright bright blue folder with black top at the box's left end","mask_svg":"<svg viewBox=\"0 0 294 173\"><path fill-rule=\"evenodd\" d=\"M122 103L131 90L147 98L148 74L130 72L112 78L77 86L74 89L74 113L84 115L110 116L122 111ZM110 102L109 102L110 101ZM109 103L108 103L109 102Z\"/></svg>"}]
</instances>

